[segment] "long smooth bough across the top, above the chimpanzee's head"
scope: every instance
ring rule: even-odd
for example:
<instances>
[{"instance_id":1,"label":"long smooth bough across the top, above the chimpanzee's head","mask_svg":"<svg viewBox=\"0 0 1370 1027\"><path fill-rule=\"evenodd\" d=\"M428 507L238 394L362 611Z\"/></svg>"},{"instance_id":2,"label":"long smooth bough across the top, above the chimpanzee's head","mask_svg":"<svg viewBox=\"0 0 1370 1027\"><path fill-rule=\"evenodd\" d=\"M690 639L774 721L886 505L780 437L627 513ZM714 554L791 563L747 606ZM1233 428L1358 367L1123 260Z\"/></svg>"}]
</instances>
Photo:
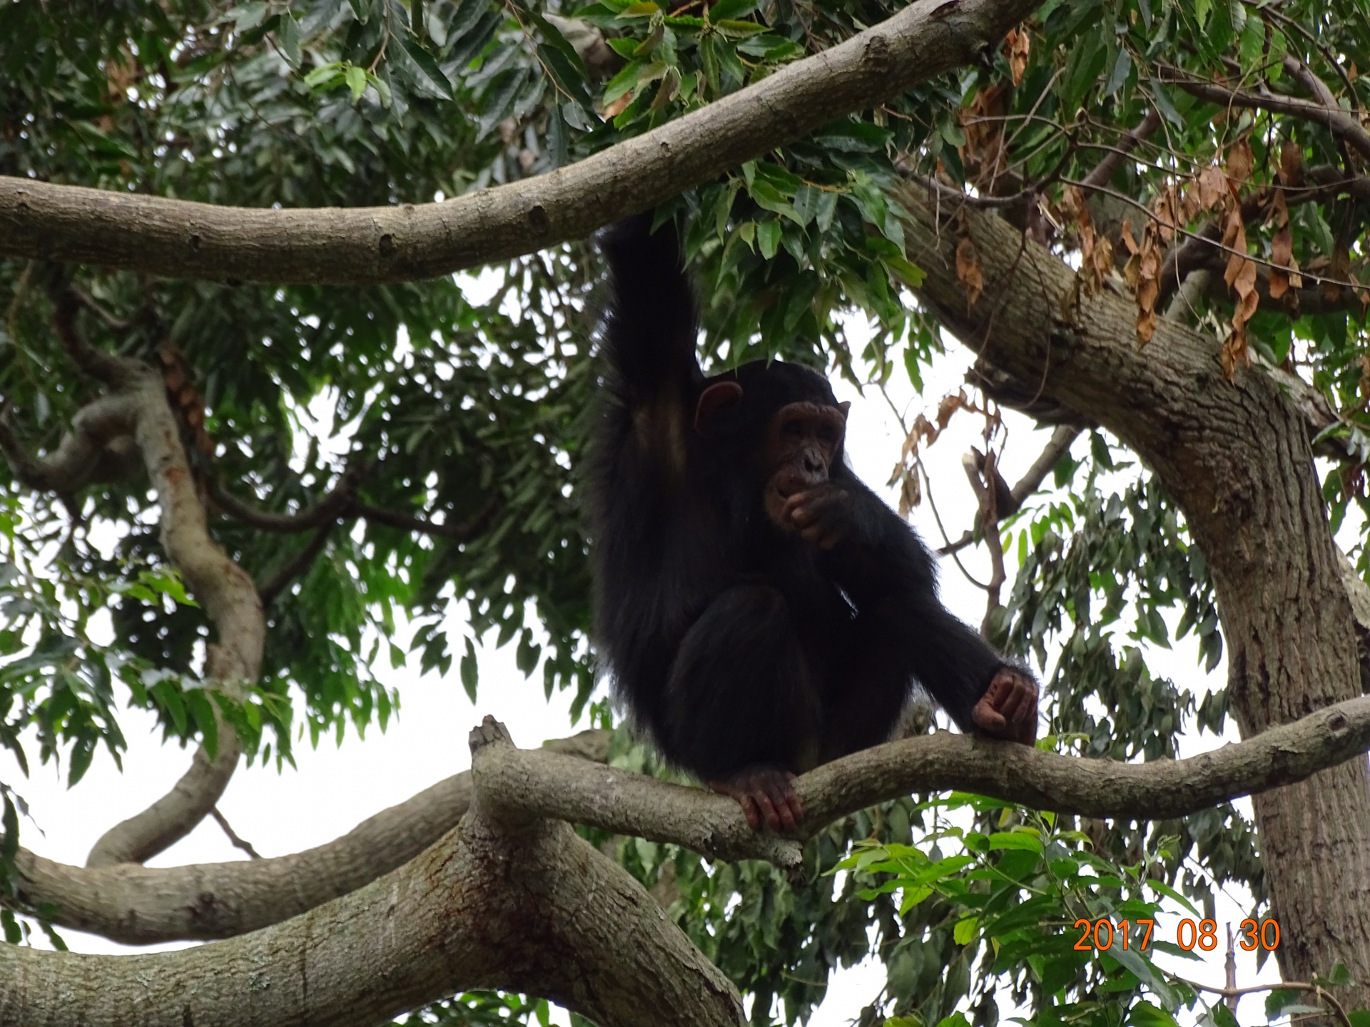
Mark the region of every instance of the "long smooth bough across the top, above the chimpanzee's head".
<instances>
[{"instance_id":1,"label":"long smooth bough across the top, above the chimpanzee's head","mask_svg":"<svg viewBox=\"0 0 1370 1027\"><path fill-rule=\"evenodd\" d=\"M0 178L0 253L170 278L433 278L585 238L851 111L970 63L1036 0L918 0L703 110L538 178L447 203L248 210Z\"/></svg>"}]
</instances>

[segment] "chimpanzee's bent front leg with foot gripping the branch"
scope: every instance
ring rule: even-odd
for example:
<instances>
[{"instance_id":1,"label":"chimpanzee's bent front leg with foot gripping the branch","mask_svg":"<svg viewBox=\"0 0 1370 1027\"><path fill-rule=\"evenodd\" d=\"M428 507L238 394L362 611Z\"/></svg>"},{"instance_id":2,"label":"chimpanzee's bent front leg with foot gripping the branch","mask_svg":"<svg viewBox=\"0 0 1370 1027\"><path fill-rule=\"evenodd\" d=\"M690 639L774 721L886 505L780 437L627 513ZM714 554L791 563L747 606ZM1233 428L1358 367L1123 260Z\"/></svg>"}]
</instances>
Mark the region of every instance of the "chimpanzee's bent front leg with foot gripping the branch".
<instances>
[{"instance_id":1,"label":"chimpanzee's bent front leg with foot gripping the branch","mask_svg":"<svg viewBox=\"0 0 1370 1027\"><path fill-rule=\"evenodd\" d=\"M671 664L662 748L737 798L754 826L788 830L801 815L790 775L819 757L819 676L778 590L729 589L685 634Z\"/></svg>"}]
</instances>

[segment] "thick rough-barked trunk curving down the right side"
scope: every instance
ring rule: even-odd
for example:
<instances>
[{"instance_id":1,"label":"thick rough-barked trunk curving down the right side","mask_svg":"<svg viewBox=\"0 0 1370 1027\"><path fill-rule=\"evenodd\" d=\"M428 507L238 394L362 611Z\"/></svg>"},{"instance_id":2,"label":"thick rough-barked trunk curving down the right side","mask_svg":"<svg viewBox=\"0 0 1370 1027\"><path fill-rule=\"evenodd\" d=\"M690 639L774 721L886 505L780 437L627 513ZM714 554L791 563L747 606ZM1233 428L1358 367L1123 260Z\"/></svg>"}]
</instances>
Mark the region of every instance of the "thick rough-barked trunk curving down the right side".
<instances>
[{"instance_id":1,"label":"thick rough-barked trunk curving down the right side","mask_svg":"<svg viewBox=\"0 0 1370 1027\"><path fill-rule=\"evenodd\" d=\"M1004 222L923 193L910 256L919 296L981 359L1108 427L1155 471L1212 568L1244 737L1360 693L1351 605L1303 418L1259 368L1228 382L1217 342L1162 320L1138 349L1136 309L1086 297L1060 260ZM945 203L943 212L947 212ZM967 308L955 246L985 289ZM1365 759L1255 798L1286 978L1345 963L1370 982L1370 768ZM1370 1001L1370 985L1356 997Z\"/></svg>"}]
</instances>

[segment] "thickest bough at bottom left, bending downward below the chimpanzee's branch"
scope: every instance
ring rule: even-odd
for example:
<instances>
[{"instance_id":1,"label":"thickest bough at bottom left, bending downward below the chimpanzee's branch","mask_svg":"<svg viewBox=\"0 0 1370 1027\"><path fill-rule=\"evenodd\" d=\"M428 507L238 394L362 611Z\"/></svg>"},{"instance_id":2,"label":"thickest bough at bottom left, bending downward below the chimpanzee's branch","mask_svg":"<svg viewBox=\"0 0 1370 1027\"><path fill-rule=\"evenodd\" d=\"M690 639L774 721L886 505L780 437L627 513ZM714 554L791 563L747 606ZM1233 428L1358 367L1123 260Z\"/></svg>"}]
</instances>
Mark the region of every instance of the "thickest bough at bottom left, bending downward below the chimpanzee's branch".
<instances>
[{"instance_id":1,"label":"thickest bough at bottom left, bending downward below the chimpanzee's branch","mask_svg":"<svg viewBox=\"0 0 1370 1027\"><path fill-rule=\"evenodd\" d=\"M508 749L489 724L481 749ZM0 1023L366 1027L466 989L547 996L600 1027L743 1023L736 989L564 823L477 801L403 868L241 938L148 956L0 946Z\"/></svg>"}]
</instances>

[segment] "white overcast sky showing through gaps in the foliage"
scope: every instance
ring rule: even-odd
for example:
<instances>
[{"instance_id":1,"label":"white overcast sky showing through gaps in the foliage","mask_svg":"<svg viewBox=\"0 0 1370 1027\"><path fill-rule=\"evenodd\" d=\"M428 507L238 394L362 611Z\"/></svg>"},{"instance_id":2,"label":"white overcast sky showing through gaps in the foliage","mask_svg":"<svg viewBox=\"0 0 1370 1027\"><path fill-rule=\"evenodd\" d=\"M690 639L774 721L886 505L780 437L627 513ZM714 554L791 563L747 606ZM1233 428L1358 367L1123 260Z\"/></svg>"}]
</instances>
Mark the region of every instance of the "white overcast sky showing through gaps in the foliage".
<instances>
[{"instance_id":1,"label":"white overcast sky showing through gaps in the foliage","mask_svg":"<svg viewBox=\"0 0 1370 1027\"><path fill-rule=\"evenodd\" d=\"M893 388L892 393L896 401L910 404L908 420L919 409L932 419L940 397L962 385L969 364L967 351L952 348L927 375L921 400L912 396L907 381L903 381L903 372L897 371L896 386L903 381L903 389L900 392ZM838 398L854 400L848 424L849 459L867 483L884 490L889 471L899 459L903 434L877 393L870 392L862 397L843 383L837 385L837 392ZM1008 414L1006 419L1010 437L1001 468L1004 477L1014 482L1036 459L1049 431L1033 431L1030 422L1018 415ZM971 445L981 445L980 430L978 416L962 414L952 429L925 453L925 464L936 482L937 505L952 537L959 537L970 526L974 514L974 496L960 468L960 457ZM1085 441L1078 440L1075 445L1078 451ZM891 501L893 503L893 497ZM926 501L915 511L914 524L930 546L941 544ZM982 581L988 579L988 557L982 548L967 550L963 561L973 574ZM970 586L949 560L943 561L941 581L947 605L963 620L978 624L984 615L984 594ZM455 634L459 637L459 631ZM1223 681L1222 667L1207 682L1203 679L1192 646L1182 646L1175 653L1152 650L1148 659L1156 674L1169 674L1182 686L1200 693ZM523 746L536 746L545 738L578 730L570 724L570 694L562 693L549 702L545 701L541 675L525 681L514 667L512 646L499 652L490 648L481 650L481 687L474 707L466 698L455 667L445 678L436 674L421 678L414 671L384 672L382 678L400 689L401 700L400 712L388 731L381 733L373 727L363 741L349 730L341 746L334 746L332 738L325 738L316 750L310 749L307 739L300 739L296 744L299 770L286 768L282 774L260 765L240 767L219 809L233 828L263 856L279 856L326 842L348 831L359 820L464 770L470 764L467 731L486 713L503 720L514 741ZM115 770L112 760L101 749L85 779L71 790L63 787L51 764L36 765L33 776L25 781L12 757L0 753L0 781L12 783L30 802L37 822L37 827L27 822L22 827L26 846L55 860L82 864L100 834L118 820L144 809L185 771L189 752L162 746L149 715L127 711L122 726L129 739L123 774ZM1208 748L1212 748L1211 739L1196 741L1196 750ZM30 752L36 756L36 746ZM245 857L207 819L149 865L237 859ZM1240 901L1225 901L1225 908L1219 911L1219 937L1223 937L1221 923L1225 916L1233 923L1243 916L1247 898L1237 898ZM1173 926L1162 923L1158 930L1163 937L1173 937ZM127 950L77 931L63 930L62 935L75 952ZM42 939L36 939L36 943L45 945ZM1273 964L1274 960L1267 964L1260 979L1274 979ZM1208 954L1203 964L1192 964L1184 972L1193 979L1221 985L1222 952ZM1238 983L1249 985L1256 979L1254 961L1238 950ZM811 1023L818 1027L848 1023L882 985L884 968L871 961L837 972L826 1001ZM1249 1013L1258 1008L1259 1001L1259 997L1248 998L1244 1008ZM560 1022L564 1023L564 1015Z\"/></svg>"}]
</instances>

